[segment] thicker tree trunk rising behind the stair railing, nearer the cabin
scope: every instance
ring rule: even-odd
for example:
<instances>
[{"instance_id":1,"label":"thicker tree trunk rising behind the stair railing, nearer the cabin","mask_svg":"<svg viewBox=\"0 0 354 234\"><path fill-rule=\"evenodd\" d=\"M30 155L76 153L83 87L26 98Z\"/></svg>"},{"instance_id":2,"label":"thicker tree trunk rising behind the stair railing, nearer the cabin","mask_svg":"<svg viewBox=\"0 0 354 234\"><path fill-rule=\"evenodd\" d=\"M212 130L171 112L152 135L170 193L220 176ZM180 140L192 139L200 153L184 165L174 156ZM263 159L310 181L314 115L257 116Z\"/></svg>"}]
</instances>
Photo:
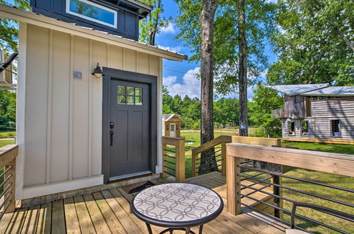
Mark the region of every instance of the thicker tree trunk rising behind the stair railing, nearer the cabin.
<instances>
[{"instance_id":1,"label":"thicker tree trunk rising behind the stair railing, nearer the cabin","mask_svg":"<svg viewBox=\"0 0 354 234\"><path fill-rule=\"evenodd\" d=\"M201 121L200 121L200 143L204 144L214 138L213 124L213 40L214 40L214 18L217 9L217 0L203 0L202 13L200 13L200 28L202 33L202 48L200 61L201 76ZM202 152L200 160L200 174L217 170L214 148Z\"/></svg>"}]
</instances>

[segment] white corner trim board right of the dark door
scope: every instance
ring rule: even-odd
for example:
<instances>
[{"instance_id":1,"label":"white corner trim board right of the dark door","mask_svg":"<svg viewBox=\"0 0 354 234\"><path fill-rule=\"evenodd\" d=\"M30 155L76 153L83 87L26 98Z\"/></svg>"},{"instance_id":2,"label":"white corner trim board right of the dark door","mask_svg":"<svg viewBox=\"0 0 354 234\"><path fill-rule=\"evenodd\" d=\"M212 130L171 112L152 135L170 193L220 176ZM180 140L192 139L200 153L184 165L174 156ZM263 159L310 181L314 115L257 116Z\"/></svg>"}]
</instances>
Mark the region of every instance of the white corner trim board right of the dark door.
<instances>
[{"instance_id":1,"label":"white corner trim board right of the dark door","mask_svg":"<svg viewBox=\"0 0 354 234\"><path fill-rule=\"evenodd\" d=\"M157 159L158 159L158 166L159 168L156 168L156 173L161 173L162 172L162 77L163 77L163 72L162 72L162 58L159 57L159 77L157 78L157 96L158 96L158 108L157 108L157 119L158 119L158 125L157 125Z\"/></svg>"}]
</instances>

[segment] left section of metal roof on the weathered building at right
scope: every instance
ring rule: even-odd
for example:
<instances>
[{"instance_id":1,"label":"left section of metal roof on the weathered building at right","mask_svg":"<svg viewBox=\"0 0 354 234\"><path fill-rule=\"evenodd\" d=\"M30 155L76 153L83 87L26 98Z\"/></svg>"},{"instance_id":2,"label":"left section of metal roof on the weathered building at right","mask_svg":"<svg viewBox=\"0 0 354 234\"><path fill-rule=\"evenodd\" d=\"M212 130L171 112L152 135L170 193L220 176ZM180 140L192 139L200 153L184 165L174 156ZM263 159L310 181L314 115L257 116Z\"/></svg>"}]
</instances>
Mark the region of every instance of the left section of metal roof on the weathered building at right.
<instances>
[{"instance_id":1,"label":"left section of metal roof on the weathered building at right","mask_svg":"<svg viewBox=\"0 0 354 234\"><path fill-rule=\"evenodd\" d=\"M289 84L289 85L268 85L270 89L275 89L283 94L294 96L303 94L304 92L314 91L316 89L323 89L329 87L329 84Z\"/></svg>"}]
</instances>

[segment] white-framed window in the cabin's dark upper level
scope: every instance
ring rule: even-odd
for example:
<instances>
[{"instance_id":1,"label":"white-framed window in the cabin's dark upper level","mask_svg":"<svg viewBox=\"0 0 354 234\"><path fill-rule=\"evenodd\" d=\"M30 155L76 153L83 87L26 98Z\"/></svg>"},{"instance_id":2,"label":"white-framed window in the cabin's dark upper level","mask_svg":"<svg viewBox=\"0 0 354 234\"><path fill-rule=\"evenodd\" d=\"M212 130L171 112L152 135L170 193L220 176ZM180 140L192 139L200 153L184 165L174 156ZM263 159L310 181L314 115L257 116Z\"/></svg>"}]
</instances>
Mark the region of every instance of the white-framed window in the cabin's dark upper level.
<instances>
[{"instance_id":1,"label":"white-framed window in the cabin's dark upper level","mask_svg":"<svg viewBox=\"0 0 354 234\"><path fill-rule=\"evenodd\" d=\"M117 11L87 0L67 0L67 13L117 28Z\"/></svg>"}]
</instances>

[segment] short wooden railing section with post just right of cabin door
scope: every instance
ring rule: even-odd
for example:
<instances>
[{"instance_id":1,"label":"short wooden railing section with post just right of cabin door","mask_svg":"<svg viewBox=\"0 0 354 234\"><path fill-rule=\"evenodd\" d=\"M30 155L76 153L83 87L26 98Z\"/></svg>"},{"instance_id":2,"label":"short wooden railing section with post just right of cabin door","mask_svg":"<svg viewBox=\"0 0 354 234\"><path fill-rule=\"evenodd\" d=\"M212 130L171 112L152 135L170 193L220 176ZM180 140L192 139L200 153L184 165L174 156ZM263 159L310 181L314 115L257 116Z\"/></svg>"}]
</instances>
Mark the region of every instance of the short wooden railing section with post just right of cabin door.
<instances>
[{"instance_id":1,"label":"short wooden railing section with post just right of cabin door","mask_svg":"<svg viewBox=\"0 0 354 234\"><path fill-rule=\"evenodd\" d=\"M185 182L185 138L162 137L162 159L164 168L162 178L169 175L176 182Z\"/></svg>"}]
</instances>

